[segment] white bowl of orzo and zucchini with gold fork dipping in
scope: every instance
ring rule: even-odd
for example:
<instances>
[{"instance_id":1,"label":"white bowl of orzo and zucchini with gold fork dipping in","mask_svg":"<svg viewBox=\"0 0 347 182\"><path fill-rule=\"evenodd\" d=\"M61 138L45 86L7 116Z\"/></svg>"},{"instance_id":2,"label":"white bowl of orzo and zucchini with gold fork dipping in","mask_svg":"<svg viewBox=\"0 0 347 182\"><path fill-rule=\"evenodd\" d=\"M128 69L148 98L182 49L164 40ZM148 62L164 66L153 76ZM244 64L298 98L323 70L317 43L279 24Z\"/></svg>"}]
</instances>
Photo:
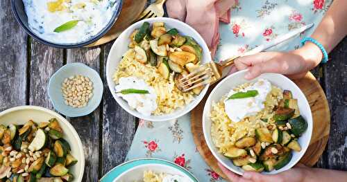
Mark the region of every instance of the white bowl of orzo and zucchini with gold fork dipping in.
<instances>
[{"instance_id":1,"label":"white bowl of orzo and zucchini with gold fork dipping in","mask_svg":"<svg viewBox=\"0 0 347 182\"><path fill-rule=\"evenodd\" d=\"M196 30L176 19L145 19L113 44L106 65L108 87L133 116L175 119L192 110L208 89L184 93L176 83L207 62L210 51Z\"/></svg>"}]
</instances>

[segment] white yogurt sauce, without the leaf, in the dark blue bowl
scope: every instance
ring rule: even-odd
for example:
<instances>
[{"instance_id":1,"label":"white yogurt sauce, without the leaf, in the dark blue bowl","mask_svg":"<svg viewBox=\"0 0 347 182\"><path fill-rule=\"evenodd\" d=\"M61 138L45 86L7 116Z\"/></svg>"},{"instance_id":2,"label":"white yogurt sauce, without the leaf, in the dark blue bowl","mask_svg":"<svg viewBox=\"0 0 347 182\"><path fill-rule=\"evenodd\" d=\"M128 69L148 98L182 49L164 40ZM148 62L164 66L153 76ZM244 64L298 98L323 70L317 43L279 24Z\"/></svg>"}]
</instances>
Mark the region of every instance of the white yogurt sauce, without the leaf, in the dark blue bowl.
<instances>
[{"instance_id":1,"label":"white yogurt sauce, without the leaf, in the dark blue bowl","mask_svg":"<svg viewBox=\"0 0 347 182\"><path fill-rule=\"evenodd\" d=\"M28 25L47 42L75 44L99 33L112 18L118 0L23 0ZM49 6L54 3L56 8ZM54 32L58 26L80 20L69 30Z\"/></svg>"}]
</instances>

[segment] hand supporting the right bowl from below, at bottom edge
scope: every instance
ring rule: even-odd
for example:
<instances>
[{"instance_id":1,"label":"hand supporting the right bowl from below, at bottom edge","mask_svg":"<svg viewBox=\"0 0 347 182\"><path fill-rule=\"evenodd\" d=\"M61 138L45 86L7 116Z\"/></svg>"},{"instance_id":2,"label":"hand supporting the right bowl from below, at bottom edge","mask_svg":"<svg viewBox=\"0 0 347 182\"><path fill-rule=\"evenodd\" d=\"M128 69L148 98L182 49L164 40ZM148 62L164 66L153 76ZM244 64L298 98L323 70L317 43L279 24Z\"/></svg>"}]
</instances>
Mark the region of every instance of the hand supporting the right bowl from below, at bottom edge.
<instances>
[{"instance_id":1,"label":"hand supporting the right bowl from below, at bottom edge","mask_svg":"<svg viewBox=\"0 0 347 182\"><path fill-rule=\"evenodd\" d=\"M285 172L280 172L274 175L260 174L259 172L244 172L243 176L239 176L233 172L230 172L226 167L218 163L219 168L223 171L228 179L232 182L302 182L305 179L309 167L298 164L296 167L291 168Z\"/></svg>"}]
</instances>

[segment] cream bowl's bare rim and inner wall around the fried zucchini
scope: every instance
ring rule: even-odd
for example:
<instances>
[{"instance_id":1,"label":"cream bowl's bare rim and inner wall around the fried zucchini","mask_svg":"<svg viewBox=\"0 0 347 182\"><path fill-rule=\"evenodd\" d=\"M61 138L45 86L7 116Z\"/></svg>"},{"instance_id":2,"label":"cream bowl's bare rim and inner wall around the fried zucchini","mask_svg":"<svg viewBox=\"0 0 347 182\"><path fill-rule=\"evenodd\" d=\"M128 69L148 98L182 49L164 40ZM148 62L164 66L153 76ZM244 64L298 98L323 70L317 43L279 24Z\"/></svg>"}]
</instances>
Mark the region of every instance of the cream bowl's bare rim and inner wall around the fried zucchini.
<instances>
[{"instance_id":1,"label":"cream bowl's bare rim and inner wall around the fried zucchini","mask_svg":"<svg viewBox=\"0 0 347 182\"><path fill-rule=\"evenodd\" d=\"M74 181L81 182L85 169L85 156L81 139L72 125L58 113L37 106L12 107L0 113L0 123L8 126L10 124L24 125L28 120L34 122L47 122L51 118L57 118L62 131L63 138L71 145L71 154L78 160L76 165L69 167Z\"/></svg>"}]
</instances>

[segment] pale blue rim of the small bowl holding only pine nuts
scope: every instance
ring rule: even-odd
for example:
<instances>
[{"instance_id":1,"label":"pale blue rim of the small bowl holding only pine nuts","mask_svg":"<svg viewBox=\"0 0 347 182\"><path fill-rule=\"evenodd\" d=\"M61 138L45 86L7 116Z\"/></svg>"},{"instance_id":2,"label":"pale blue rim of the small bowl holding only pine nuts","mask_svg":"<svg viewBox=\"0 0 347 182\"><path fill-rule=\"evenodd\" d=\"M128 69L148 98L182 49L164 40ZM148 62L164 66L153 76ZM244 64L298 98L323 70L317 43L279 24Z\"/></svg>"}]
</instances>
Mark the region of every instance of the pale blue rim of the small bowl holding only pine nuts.
<instances>
[{"instance_id":1,"label":"pale blue rim of the small bowl holding only pine nuts","mask_svg":"<svg viewBox=\"0 0 347 182\"><path fill-rule=\"evenodd\" d=\"M64 69L66 69L67 67L71 67L71 66L83 66L83 67L85 67L86 69L90 69L90 70L92 71L92 73L94 73L94 74L97 75L96 81L97 81L97 82L101 82L101 85L102 85L101 88L98 88L98 89L101 89L101 94L100 94L100 95L93 95L93 97L97 97L97 98L96 98L96 99L97 99L97 100L96 100L96 101L97 101L96 103L98 103L98 104L95 104L95 105L90 106L90 109L88 109L87 111L81 112L81 113L79 113L79 114L71 114L71 113L69 113L69 112L61 111L60 109L58 109L58 107L57 107L57 105L56 105L56 100L53 100L53 99L52 99L51 93L50 93L50 91L49 91L49 90L50 90L49 88L51 88L52 85L53 85L53 83L52 83L53 81L52 81L52 80L56 79L56 77L57 77ZM94 89L96 89L96 88L94 88ZM85 64L83 64L83 63L81 63L81 62L69 63L69 64L65 64L64 66L62 66L60 69L58 69L58 71L56 71L56 73L54 73L54 74L51 76L51 78L49 78L49 84L48 84L48 87L47 87L47 93L48 93L48 95L49 95L49 100L51 100L51 103L53 104L54 109L56 109L59 113L62 113L63 115L68 116L68 117L86 116L86 115L92 113L92 111L95 111L95 109L96 109L97 107L99 107L99 105L100 105L101 99L103 98L103 81L101 80L101 77L100 77L99 73L96 72L94 69L90 68L90 66L87 66L87 65L85 65ZM88 107L88 106L87 106L87 107Z\"/></svg>"}]
</instances>

